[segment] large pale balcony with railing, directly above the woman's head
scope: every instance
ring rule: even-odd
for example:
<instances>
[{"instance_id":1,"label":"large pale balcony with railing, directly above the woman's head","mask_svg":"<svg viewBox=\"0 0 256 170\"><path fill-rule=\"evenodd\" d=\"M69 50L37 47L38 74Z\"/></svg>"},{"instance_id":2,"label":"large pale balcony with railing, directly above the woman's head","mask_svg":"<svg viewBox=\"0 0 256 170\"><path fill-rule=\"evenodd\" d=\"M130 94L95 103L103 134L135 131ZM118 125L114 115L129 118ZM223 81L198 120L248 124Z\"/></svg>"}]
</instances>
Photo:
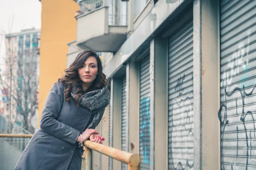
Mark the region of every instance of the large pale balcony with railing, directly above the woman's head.
<instances>
[{"instance_id":1,"label":"large pale balcony with railing, directly above the woman's head","mask_svg":"<svg viewBox=\"0 0 256 170\"><path fill-rule=\"evenodd\" d=\"M127 34L127 2L78 0L77 46L99 52L116 52Z\"/></svg>"}]
</instances>

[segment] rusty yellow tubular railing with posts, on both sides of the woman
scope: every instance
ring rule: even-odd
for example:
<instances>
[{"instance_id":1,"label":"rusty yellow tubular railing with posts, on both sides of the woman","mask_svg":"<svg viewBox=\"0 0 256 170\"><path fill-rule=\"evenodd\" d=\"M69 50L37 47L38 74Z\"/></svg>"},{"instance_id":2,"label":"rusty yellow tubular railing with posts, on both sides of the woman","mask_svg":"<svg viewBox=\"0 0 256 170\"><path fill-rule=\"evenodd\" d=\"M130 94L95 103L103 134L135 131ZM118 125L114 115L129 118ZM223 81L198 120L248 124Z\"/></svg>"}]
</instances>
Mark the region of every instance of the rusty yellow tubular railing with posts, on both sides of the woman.
<instances>
[{"instance_id":1,"label":"rusty yellow tubular railing with posts, on both sides of the woman","mask_svg":"<svg viewBox=\"0 0 256 170\"><path fill-rule=\"evenodd\" d=\"M32 134L0 134L0 138L32 138ZM91 141L85 141L85 170L93 169L93 150L102 153L108 157L128 164L128 170L140 170L140 156L98 144Z\"/></svg>"}]
</instances>

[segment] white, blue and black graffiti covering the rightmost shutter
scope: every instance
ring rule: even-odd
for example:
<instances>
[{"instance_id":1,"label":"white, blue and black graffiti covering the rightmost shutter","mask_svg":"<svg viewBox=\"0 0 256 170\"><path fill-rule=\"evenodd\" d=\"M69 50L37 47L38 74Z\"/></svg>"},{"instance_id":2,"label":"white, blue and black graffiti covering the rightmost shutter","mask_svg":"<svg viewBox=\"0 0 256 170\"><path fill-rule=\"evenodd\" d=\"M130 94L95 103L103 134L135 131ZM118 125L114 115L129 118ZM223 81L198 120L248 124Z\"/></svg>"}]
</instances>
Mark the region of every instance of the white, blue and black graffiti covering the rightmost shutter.
<instances>
[{"instance_id":1,"label":"white, blue and black graffiti covering the rightmost shutter","mask_svg":"<svg viewBox=\"0 0 256 170\"><path fill-rule=\"evenodd\" d=\"M221 58L221 170L255 169L256 83L250 63L256 52L249 49L250 34L249 29L236 50Z\"/></svg>"}]
</instances>

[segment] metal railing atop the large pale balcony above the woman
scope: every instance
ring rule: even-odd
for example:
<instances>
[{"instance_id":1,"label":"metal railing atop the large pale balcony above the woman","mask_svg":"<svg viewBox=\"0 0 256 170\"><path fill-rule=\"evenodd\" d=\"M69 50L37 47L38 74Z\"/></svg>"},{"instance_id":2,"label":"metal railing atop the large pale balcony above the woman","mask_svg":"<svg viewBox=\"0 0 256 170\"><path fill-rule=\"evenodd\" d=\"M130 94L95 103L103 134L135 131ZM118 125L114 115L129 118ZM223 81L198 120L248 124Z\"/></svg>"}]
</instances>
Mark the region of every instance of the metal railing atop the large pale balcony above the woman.
<instances>
[{"instance_id":1,"label":"metal railing atop the large pale balcony above the woman","mask_svg":"<svg viewBox=\"0 0 256 170\"><path fill-rule=\"evenodd\" d=\"M108 25L127 26L127 2L113 0L78 0L81 14L86 14L102 6L108 6Z\"/></svg>"}]
</instances>

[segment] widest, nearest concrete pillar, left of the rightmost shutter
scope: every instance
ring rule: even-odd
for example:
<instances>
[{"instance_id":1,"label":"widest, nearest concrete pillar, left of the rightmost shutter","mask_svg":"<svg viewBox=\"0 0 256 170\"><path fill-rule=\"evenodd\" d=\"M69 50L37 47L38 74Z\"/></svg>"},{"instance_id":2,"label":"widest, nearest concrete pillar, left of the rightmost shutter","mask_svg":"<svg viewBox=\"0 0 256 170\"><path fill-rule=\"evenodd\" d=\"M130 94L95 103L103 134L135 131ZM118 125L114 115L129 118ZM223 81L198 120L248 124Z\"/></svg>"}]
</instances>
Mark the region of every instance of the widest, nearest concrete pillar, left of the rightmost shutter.
<instances>
[{"instance_id":1,"label":"widest, nearest concrete pillar, left of the rightmost shutter","mask_svg":"<svg viewBox=\"0 0 256 170\"><path fill-rule=\"evenodd\" d=\"M215 0L194 0L194 169L220 169L219 22Z\"/></svg>"}]
</instances>

